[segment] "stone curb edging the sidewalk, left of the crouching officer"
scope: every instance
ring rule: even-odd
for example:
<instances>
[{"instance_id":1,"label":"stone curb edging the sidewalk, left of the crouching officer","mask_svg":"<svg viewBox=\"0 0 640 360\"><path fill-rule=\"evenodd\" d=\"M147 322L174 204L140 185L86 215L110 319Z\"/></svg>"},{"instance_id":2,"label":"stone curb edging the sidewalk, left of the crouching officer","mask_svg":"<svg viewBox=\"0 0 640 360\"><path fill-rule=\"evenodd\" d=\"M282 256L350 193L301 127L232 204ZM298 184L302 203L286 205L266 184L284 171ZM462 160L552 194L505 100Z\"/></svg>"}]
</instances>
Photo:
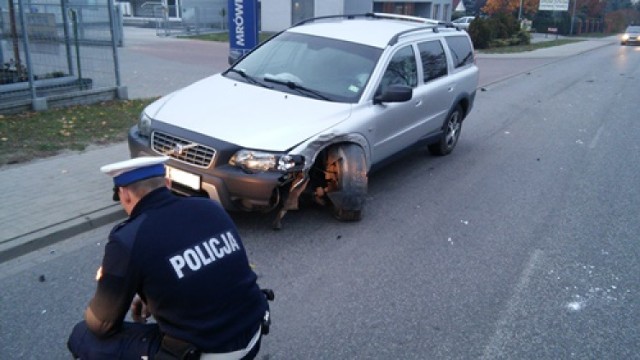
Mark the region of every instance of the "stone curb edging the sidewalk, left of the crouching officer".
<instances>
[{"instance_id":1,"label":"stone curb edging the sidewalk, left of the crouching officer","mask_svg":"<svg viewBox=\"0 0 640 360\"><path fill-rule=\"evenodd\" d=\"M76 218L62 221L0 243L0 264L43 247L97 229L115 221L126 219L127 214L113 204Z\"/></svg>"}]
</instances>

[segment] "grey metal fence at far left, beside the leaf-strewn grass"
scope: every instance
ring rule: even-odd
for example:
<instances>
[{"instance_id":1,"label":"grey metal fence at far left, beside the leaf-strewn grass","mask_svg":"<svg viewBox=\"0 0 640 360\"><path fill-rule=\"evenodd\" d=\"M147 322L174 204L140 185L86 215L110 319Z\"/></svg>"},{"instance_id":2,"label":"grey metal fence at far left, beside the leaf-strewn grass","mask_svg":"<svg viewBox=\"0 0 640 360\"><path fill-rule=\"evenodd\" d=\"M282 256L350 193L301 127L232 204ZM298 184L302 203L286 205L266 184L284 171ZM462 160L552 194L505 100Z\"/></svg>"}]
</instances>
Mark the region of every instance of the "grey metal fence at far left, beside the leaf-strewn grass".
<instances>
[{"instance_id":1,"label":"grey metal fence at far left, beside the leaf-strewn grass","mask_svg":"<svg viewBox=\"0 0 640 360\"><path fill-rule=\"evenodd\" d=\"M126 98L113 0L0 0L0 14L0 113Z\"/></svg>"}]
</instances>

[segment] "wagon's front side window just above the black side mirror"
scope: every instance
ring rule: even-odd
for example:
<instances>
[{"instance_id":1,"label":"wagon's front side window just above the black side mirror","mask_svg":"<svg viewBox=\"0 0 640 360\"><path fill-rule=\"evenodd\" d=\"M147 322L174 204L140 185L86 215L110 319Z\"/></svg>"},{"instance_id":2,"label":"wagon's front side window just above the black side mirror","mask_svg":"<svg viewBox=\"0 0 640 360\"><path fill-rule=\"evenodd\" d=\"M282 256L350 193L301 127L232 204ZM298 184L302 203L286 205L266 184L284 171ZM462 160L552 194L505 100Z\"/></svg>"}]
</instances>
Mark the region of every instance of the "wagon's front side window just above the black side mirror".
<instances>
[{"instance_id":1,"label":"wagon's front side window just above the black side mirror","mask_svg":"<svg viewBox=\"0 0 640 360\"><path fill-rule=\"evenodd\" d=\"M418 85L418 67L412 46L405 46L393 55L376 93L381 94L389 85Z\"/></svg>"}]
</instances>

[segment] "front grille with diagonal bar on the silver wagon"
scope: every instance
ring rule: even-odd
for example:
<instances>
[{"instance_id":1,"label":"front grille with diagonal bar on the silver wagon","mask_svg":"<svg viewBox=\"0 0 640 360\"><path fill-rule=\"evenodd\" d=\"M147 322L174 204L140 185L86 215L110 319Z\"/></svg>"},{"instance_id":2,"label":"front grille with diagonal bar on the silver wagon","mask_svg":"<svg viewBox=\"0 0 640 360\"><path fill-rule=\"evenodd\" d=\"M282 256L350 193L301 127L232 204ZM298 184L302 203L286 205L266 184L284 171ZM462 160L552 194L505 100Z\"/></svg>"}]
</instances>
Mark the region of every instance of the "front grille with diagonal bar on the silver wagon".
<instances>
[{"instance_id":1,"label":"front grille with diagonal bar on the silver wagon","mask_svg":"<svg viewBox=\"0 0 640 360\"><path fill-rule=\"evenodd\" d=\"M177 136L154 131L151 136L153 150L184 163L207 168L213 162L216 150Z\"/></svg>"}]
</instances>

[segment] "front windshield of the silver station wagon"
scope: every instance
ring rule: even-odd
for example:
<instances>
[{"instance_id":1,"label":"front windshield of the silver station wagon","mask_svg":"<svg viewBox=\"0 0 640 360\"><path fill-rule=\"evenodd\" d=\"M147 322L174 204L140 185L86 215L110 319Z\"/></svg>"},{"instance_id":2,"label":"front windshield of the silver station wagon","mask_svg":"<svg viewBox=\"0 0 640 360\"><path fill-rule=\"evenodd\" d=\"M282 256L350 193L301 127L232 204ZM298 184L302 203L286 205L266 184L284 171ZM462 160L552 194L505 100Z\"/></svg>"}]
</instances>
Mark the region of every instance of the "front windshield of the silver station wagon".
<instances>
[{"instance_id":1,"label":"front windshield of the silver station wagon","mask_svg":"<svg viewBox=\"0 0 640 360\"><path fill-rule=\"evenodd\" d=\"M315 99L355 103L381 53L382 49L361 44L285 32L240 60L225 76Z\"/></svg>"}]
</instances>

